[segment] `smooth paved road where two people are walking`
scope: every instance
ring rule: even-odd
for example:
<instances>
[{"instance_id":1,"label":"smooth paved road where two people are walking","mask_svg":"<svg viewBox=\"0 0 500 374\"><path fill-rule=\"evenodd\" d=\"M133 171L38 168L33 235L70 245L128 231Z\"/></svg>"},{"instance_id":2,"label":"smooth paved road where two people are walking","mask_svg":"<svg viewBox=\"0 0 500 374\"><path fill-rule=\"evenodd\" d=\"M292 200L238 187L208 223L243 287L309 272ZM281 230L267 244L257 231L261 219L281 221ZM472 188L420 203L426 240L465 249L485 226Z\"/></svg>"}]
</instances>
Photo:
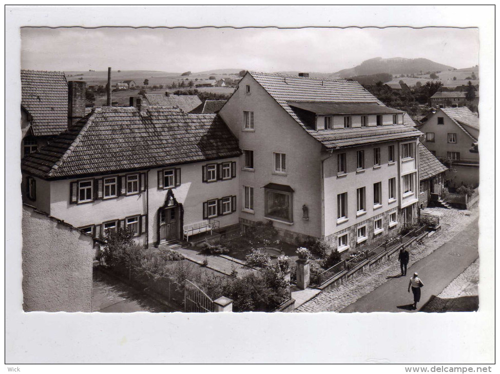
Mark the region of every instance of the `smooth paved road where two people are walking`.
<instances>
[{"instance_id":1,"label":"smooth paved road where two people are walking","mask_svg":"<svg viewBox=\"0 0 500 374\"><path fill-rule=\"evenodd\" d=\"M363 296L355 303L341 310L341 313L370 312L370 311L418 311L429 301L431 296L436 296L458 277L478 257L477 218L467 225L447 243L441 245L429 256L415 262L408 268L406 277L390 278L370 294ZM411 310L413 294L408 293L410 275L418 273L425 284L422 287L420 303L417 310Z\"/></svg>"}]
</instances>

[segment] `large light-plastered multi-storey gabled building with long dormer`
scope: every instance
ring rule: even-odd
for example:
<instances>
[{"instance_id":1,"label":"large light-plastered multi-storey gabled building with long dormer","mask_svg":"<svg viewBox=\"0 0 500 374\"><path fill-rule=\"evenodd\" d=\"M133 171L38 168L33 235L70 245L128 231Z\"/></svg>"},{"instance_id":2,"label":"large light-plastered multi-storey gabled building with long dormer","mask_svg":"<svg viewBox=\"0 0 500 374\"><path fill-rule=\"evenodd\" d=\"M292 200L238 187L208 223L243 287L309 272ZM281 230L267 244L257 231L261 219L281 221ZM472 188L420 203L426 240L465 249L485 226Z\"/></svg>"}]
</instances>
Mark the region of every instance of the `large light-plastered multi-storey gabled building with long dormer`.
<instances>
[{"instance_id":1,"label":"large light-plastered multi-storey gabled building with long dormer","mask_svg":"<svg viewBox=\"0 0 500 374\"><path fill-rule=\"evenodd\" d=\"M339 252L395 235L418 214L418 136L354 81L248 72L219 111L243 151L240 222Z\"/></svg>"}]
</instances>

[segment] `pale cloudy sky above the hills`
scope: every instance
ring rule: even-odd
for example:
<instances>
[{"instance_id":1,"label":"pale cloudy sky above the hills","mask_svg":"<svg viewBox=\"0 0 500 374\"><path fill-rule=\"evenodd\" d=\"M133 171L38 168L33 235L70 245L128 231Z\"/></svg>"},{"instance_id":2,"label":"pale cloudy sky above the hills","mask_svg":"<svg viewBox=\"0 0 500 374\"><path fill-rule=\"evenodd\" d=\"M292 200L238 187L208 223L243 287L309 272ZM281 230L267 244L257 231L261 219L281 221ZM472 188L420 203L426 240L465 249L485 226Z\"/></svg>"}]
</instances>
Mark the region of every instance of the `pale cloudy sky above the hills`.
<instances>
[{"instance_id":1,"label":"pale cloudy sky above the hills","mask_svg":"<svg viewBox=\"0 0 500 374\"><path fill-rule=\"evenodd\" d=\"M22 69L333 73L374 58L478 64L474 28L22 28Z\"/></svg>"}]
</instances>

